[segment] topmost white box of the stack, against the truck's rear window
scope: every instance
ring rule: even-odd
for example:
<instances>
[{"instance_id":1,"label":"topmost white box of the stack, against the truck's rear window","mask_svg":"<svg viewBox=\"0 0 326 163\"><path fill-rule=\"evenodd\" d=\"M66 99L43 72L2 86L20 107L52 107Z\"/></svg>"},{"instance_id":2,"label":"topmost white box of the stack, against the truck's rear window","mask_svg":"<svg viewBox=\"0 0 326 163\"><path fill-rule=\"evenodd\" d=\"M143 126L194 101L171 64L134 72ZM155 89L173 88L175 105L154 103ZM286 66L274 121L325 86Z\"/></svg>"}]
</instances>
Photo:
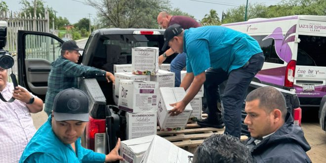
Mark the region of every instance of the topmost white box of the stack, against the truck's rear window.
<instances>
[{"instance_id":1,"label":"topmost white box of the stack, against the truck's rear window","mask_svg":"<svg viewBox=\"0 0 326 163\"><path fill-rule=\"evenodd\" d=\"M132 74L155 75L159 70L158 47L133 47L131 49Z\"/></svg>"}]
</instances>

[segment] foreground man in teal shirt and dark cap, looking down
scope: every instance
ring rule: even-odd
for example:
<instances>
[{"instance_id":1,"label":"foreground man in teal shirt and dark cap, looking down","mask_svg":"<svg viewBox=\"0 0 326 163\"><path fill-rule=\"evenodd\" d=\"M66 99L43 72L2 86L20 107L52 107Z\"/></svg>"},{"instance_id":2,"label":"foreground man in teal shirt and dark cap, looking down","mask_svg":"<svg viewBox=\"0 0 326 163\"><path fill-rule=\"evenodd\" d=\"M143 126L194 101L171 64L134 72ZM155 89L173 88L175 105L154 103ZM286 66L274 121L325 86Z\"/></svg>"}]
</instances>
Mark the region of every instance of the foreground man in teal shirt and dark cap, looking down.
<instances>
[{"instance_id":1,"label":"foreground man in teal shirt and dark cap, looking down","mask_svg":"<svg viewBox=\"0 0 326 163\"><path fill-rule=\"evenodd\" d=\"M54 98L52 115L26 146L20 163L103 163L122 160L116 147L100 154L82 147L81 135L89 121L88 99L79 89L60 91Z\"/></svg>"}]
</instances>

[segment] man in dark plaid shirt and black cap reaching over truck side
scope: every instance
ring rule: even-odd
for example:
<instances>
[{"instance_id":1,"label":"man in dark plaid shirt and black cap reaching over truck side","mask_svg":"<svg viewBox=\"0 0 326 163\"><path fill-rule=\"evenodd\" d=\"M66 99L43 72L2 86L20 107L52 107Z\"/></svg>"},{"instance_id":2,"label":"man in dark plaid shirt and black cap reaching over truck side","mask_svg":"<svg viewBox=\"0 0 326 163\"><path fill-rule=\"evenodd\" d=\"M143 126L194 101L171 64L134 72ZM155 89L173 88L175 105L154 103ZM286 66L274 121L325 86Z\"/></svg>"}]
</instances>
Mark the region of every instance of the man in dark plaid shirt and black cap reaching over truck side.
<instances>
[{"instance_id":1,"label":"man in dark plaid shirt and black cap reaching over truck side","mask_svg":"<svg viewBox=\"0 0 326 163\"><path fill-rule=\"evenodd\" d=\"M115 82L113 74L94 67L77 64L80 50L75 41L66 41L61 46L61 56L52 63L51 72L47 80L47 92L44 111L49 116L53 99L63 89L78 87L78 77L106 78L108 82Z\"/></svg>"}]
</instances>

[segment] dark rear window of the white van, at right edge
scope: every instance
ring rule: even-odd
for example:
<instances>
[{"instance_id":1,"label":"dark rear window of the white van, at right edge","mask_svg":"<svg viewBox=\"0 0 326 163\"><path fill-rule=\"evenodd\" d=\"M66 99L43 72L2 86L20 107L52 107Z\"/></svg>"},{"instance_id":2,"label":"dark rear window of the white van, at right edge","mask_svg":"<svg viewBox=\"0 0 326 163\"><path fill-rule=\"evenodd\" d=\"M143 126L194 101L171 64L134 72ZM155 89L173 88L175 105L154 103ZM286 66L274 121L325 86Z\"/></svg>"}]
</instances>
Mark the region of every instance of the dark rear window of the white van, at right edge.
<instances>
[{"instance_id":1,"label":"dark rear window of the white van, at right edge","mask_svg":"<svg viewBox=\"0 0 326 163\"><path fill-rule=\"evenodd\" d=\"M299 35L297 65L326 66L326 37Z\"/></svg>"}]
</instances>

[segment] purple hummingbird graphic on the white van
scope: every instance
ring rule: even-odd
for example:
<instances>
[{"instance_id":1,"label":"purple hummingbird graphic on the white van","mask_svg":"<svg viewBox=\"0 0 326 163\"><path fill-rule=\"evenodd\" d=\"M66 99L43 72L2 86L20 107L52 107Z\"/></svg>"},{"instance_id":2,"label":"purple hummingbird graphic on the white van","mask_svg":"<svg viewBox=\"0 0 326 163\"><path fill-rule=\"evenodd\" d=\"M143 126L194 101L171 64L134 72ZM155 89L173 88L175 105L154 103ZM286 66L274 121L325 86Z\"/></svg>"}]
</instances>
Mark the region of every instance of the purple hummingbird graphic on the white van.
<instances>
[{"instance_id":1,"label":"purple hummingbird graphic on the white van","mask_svg":"<svg viewBox=\"0 0 326 163\"><path fill-rule=\"evenodd\" d=\"M292 51L287 42L293 42L295 36L290 36L291 34L296 32L296 25L293 25L283 36L282 28L276 28L271 35L265 37L262 41L272 38L275 41L275 50L277 55L284 62L288 63L292 59Z\"/></svg>"}]
</instances>

